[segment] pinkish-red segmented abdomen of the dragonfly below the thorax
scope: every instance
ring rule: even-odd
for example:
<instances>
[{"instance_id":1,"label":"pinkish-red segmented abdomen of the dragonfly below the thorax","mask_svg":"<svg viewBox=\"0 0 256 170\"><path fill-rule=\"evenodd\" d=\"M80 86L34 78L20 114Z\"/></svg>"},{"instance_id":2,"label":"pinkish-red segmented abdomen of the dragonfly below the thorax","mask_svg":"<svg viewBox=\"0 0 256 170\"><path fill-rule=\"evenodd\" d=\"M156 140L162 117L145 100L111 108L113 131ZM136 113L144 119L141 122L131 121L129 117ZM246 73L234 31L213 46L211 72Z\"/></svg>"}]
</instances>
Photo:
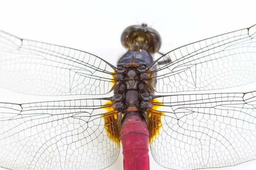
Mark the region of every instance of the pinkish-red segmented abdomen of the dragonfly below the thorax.
<instances>
[{"instance_id":1,"label":"pinkish-red segmented abdomen of the dragonfly below the thorax","mask_svg":"<svg viewBox=\"0 0 256 170\"><path fill-rule=\"evenodd\" d=\"M145 118L138 113L128 114L120 129L124 170L149 170L149 131Z\"/></svg>"}]
</instances>

